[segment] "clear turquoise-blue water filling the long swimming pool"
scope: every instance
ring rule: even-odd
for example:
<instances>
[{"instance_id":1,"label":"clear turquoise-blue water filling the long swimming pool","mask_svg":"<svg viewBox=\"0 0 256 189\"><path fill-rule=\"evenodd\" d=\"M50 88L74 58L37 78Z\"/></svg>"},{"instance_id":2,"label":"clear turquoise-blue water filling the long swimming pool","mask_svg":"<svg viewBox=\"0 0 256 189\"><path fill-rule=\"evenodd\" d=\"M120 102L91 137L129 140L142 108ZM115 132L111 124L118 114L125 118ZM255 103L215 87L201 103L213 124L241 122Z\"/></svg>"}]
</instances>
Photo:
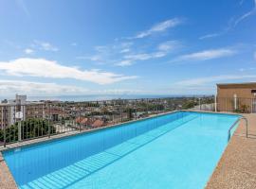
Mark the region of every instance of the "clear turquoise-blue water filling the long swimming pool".
<instances>
[{"instance_id":1,"label":"clear turquoise-blue water filling the long swimming pool","mask_svg":"<svg viewBox=\"0 0 256 189\"><path fill-rule=\"evenodd\" d=\"M237 118L174 112L3 155L19 188L204 188Z\"/></svg>"}]
</instances>

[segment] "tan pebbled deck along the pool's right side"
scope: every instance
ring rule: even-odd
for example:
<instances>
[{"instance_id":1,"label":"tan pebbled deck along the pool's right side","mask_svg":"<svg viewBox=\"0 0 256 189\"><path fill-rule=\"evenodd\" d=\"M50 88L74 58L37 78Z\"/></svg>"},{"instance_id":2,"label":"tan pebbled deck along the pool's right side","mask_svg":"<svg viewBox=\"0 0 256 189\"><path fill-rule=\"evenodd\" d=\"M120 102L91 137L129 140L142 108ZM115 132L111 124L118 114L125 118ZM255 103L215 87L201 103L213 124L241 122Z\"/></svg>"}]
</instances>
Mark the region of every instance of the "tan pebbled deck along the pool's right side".
<instances>
[{"instance_id":1,"label":"tan pebbled deck along the pool's right side","mask_svg":"<svg viewBox=\"0 0 256 189\"><path fill-rule=\"evenodd\" d=\"M219 162L210 176L206 189L256 188L256 113L243 114L248 120L248 138L246 124L240 122L226 146Z\"/></svg>"}]
</instances>

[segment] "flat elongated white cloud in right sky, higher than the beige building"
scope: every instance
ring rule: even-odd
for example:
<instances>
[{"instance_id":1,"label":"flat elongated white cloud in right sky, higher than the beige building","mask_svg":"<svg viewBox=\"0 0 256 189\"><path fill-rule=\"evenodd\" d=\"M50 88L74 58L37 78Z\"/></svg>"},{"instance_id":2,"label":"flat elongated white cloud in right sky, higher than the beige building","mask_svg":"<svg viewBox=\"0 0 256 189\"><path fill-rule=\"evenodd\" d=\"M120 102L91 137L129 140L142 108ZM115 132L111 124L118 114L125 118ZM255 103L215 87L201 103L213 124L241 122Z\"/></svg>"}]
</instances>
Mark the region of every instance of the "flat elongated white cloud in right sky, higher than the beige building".
<instances>
[{"instance_id":1,"label":"flat elongated white cloud in right sky, higher than the beige building","mask_svg":"<svg viewBox=\"0 0 256 189\"><path fill-rule=\"evenodd\" d=\"M219 59L223 57L229 57L236 53L235 50L229 48L219 48L219 49L210 49L204 50L192 54L182 55L174 59L173 61L182 61L182 60L212 60Z\"/></svg>"}]
</instances>

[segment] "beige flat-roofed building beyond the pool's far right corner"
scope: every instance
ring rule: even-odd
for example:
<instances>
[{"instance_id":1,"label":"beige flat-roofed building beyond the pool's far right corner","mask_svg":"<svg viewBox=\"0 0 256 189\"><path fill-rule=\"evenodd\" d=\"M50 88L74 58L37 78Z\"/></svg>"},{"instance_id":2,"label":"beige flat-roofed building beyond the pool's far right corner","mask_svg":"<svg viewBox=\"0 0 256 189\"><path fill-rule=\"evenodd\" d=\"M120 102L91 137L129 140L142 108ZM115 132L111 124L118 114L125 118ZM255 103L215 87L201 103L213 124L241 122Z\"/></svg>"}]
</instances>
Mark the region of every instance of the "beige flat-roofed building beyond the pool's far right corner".
<instances>
[{"instance_id":1,"label":"beige flat-roofed building beyond the pool's far right corner","mask_svg":"<svg viewBox=\"0 0 256 189\"><path fill-rule=\"evenodd\" d=\"M217 84L217 103L222 112L256 112L256 82Z\"/></svg>"}]
</instances>

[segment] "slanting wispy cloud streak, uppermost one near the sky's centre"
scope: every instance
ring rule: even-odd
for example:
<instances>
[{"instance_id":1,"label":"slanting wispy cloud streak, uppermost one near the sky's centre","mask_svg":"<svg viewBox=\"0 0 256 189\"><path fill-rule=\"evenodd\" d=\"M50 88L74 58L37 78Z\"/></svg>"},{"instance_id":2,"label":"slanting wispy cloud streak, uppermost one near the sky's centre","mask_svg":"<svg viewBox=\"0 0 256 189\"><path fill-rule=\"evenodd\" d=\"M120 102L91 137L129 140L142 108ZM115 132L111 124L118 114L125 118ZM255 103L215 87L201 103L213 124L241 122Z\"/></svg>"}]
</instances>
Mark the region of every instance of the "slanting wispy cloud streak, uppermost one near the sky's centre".
<instances>
[{"instance_id":1,"label":"slanting wispy cloud streak, uppermost one near the sky's centre","mask_svg":"<svg viewBox=\"0 0 256 189\"><path fill-rule=\"evenodd\" d=\"M145 38L155 33L163 32L168 28L180 25L182 22L183 21L181 19L174 18L174 19L170 19L170 20L158 23L155 26L152 26L150 29L138 33L137 36L133 37L132 39Z\"/></svg>"}]
</instances>

